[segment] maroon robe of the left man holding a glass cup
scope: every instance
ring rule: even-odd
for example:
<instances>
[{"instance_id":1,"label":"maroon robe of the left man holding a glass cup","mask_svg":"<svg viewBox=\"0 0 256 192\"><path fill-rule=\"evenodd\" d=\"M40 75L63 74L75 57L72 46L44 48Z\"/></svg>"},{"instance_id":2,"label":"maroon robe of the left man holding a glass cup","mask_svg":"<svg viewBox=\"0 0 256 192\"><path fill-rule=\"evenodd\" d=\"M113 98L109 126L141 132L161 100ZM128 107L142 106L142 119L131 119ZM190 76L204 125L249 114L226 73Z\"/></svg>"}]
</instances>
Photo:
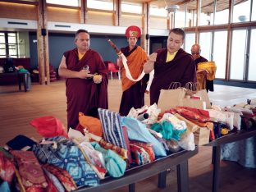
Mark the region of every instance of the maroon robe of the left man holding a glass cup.
<instances>
[{"instance_id":1,"label":"maroon robe of the left man holding a glass cup","mask_svg":"<svg viewBox=\"0 0 256 192\"><path fill-rule=\"evenodd\" d=\"M75 128L78 124L78 113L98 116L98 107L107 108L107 68L103 58L94 50L89 49L79 61L77 48L64 53L67 69L80 71L88 65L91 74L97 73L103 76L100 84L95 84L91 79L67 78L66 79L66 103L67 126Z\"/></svg>"}]
</instances>

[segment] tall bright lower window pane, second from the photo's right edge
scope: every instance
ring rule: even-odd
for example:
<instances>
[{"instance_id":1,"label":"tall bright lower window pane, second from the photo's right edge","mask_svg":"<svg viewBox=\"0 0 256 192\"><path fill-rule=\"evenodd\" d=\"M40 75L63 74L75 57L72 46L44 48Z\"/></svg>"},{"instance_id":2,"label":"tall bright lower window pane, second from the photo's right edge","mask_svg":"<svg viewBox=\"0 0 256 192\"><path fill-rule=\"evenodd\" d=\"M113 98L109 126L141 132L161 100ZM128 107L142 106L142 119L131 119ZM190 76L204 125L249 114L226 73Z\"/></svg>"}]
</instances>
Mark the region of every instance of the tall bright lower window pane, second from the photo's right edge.
<instances>
[{"instance_id":1,"label":"tall bright lower window pane, second from the photo's right edge","mask_svg":"<svg viewBox=\"0 0 256 192\"><path fill-rule=\"evenodd\" d=\"M231 80L244 80L246 39L246 30L232 31Z\"/></svg>"}]
</instances>

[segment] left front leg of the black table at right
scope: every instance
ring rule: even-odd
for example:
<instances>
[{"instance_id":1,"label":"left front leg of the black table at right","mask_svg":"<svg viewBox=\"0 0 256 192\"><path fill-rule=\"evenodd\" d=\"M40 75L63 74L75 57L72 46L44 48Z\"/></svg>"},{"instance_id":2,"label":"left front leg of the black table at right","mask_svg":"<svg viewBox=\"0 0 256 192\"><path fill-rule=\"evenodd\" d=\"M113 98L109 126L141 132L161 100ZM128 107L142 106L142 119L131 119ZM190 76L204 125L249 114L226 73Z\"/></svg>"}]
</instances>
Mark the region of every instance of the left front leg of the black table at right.
<instances>
[{"instance_id":1,"label":"left front leg of the black table at right","mask_svg":"<svg viewBox=\"0 0 256 192\"><path fill-rule=\"evenodd\" d=\"M217 192L219 185L219 169L221 162L221 146L213 146L213 192Z\"/></svg>"}]
</instances>

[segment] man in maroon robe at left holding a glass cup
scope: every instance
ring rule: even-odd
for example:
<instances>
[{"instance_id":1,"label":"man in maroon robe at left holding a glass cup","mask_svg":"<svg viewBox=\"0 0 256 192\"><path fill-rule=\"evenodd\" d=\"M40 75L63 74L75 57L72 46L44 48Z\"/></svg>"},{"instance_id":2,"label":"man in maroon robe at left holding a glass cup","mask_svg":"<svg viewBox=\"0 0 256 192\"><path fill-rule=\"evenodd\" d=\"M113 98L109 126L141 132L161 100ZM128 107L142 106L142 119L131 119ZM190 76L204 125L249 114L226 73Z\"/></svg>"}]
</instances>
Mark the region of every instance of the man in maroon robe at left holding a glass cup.
<instances>
[{"instance_id":1,"label":"man in maroon robe at left holding a glass cup","mask_svg":"<svg viewBox=\"0 0 256 192\"><path fill-rule=\"evenodd\" d=\"M66 77L68 128L78 125L79 112L97 117L98 107L108 107L107 68L102 57L89 48L88 31L78 30L75 44L77 48L64 53L59 66L59 75Z\"/></svg>"}]
</instances>

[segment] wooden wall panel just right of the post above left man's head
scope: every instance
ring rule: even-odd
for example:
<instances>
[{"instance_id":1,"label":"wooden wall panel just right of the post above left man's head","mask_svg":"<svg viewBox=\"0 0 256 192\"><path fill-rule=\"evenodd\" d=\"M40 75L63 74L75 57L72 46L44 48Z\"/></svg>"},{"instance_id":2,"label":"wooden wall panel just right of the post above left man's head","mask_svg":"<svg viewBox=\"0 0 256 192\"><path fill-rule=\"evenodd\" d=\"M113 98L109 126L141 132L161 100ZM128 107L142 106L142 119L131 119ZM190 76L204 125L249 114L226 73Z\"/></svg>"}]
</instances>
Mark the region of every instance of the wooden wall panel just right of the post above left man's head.
<instances>
[{"instance_id":1,"label":"wooden wall panel just right of the post above left man's head","mask_svg":"<svg viewBox=\"0 0 256 192\"><path fill-rule=\"evenodd\" d=\"M86 24L94 25L114 25L114 16L112 12L88 11L86 17Z\"/></svg>"}]
</instances>

